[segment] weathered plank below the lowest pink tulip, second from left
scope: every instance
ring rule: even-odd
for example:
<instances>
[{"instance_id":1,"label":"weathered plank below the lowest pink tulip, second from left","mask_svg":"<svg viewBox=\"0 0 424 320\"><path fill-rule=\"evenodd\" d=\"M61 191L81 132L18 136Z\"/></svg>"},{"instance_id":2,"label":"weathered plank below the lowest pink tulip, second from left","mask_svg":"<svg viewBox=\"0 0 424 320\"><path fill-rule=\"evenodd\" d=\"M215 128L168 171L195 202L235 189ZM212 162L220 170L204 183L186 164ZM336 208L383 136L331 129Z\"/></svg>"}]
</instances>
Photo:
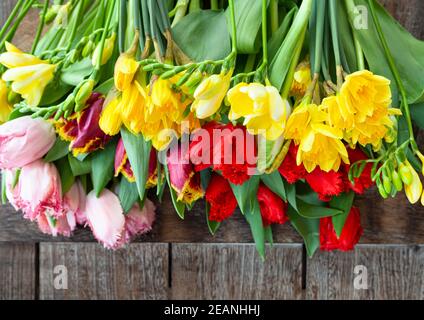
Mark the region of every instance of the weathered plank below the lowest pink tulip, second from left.
<instances>
[{"instance_id":1,"label":"weathered plank below the lowest pink tulip, second from left","mask_svg":"<svg viewBox=\"0 0 424 320\"><path fill-rule=\"evenodd\" d=\"M68 275L66 290L57 287L58 283L63 284L57 278L63 270ZM167 244L132 244L118 251L97 244L40 244L40 299L167 297Z\"/></svg>"}]
</instances>

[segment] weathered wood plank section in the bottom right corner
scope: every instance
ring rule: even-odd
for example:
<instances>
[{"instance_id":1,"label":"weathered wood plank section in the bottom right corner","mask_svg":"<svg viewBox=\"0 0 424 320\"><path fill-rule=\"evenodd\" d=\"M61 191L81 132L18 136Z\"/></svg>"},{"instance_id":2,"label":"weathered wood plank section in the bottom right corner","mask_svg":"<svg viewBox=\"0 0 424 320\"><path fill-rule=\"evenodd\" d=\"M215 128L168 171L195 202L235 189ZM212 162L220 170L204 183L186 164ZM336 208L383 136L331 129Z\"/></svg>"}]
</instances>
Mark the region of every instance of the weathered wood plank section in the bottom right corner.
<instances>
[{"instance_id":1,"label":"weathered wood plank section in the bottom right corner","mask_svg":"<svg viewBox=\"0 0 424 320\"><path fill-rule=\"evenodd\" d=\"M368 289L354 279L367 270ZM361 268L361 267L359 267ZM308 299L424 299L424 246L361 245L354 253L320 252L307 260ZM363 283L363 282L362 282Z\"/></svg>"}]
</instances>

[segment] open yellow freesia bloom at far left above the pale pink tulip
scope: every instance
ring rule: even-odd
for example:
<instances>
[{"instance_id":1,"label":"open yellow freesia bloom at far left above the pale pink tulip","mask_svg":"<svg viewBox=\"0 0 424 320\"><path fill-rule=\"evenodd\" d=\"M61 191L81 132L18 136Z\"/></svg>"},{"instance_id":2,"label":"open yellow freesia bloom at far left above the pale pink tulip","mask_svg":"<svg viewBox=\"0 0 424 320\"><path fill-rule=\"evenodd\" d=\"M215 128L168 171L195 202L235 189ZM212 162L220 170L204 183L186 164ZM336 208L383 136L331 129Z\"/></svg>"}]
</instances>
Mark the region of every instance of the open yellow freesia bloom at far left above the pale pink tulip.
<instances>
[{"instance_id":1,"label":"open yellow freesia bloom at far left above the pale pink tulip","mask_svg":"<svg viewBox=\"0 0 424 320\"><path fill-rule=\"evenodd\" d=\"M0 63L8 68L2 79L12 82L12 90L19 93L29 106L38 106L44 89L53 79L56 65L23 53L10 43L6 43L6 50L0 54Z\"/></svg>"}]
</instances>

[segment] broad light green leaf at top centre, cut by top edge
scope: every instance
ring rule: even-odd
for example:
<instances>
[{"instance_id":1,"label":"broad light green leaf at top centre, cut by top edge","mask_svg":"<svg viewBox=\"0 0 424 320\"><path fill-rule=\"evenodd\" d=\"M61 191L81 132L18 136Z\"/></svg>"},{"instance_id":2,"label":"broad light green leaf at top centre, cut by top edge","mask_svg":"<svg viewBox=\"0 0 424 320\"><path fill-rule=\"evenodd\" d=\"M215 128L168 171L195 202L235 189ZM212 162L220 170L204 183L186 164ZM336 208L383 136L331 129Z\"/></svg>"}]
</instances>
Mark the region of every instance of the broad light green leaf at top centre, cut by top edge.
<instances>
[{"instance_id":1,"label":"broad light green leaf at top centre, cut by top edge","mask_svg":"<svg viewBox=\"0 0 424 320\"><path fill-rule=\"evenodd\" d=\"M267 3L269 3L269 0ZM234 10L237 27L237 51L244 54L258 53L261 47L262 1L235 0ZM227 9L227 25L231 26L229 8Z\"/></svg>"}]
</instances>

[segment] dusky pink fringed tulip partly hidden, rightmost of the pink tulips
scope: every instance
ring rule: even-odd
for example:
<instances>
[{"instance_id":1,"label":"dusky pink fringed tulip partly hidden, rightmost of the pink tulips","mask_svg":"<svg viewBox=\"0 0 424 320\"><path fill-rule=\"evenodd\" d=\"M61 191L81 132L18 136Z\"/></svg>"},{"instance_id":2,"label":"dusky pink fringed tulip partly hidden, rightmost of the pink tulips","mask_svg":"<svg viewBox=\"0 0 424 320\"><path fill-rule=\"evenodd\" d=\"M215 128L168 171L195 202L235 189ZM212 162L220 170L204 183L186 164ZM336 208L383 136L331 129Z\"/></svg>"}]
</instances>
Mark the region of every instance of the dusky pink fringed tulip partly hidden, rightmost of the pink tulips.
<instances>
[{"instance_id":1,"label":"dusky pink fringed tulip partly hidden, rightmost of the pink tulips","mask_svg":"<svg viewBox=\"0 0 424 320\"><path fill-rule=\"evenodd\" d=\"M125 238L128 242L130 239L152 230L156 218L155 210L153 202L146 199L142 210L138 204L135 204L128 212L125 216Z\"/></svg>"}]
</instances>

